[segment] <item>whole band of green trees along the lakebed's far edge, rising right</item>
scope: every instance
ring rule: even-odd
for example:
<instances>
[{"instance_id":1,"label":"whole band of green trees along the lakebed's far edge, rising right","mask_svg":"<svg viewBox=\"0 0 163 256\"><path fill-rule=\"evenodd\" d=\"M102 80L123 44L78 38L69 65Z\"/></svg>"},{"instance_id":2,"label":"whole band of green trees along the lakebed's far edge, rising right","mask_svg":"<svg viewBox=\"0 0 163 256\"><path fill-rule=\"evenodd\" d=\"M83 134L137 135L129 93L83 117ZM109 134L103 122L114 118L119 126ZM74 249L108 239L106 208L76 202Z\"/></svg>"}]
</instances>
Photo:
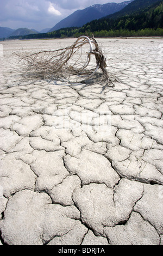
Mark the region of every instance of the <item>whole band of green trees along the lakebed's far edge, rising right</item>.
<instances>
[{"instance_id":1,"label":"whole band of green trees along the lakebed's far edge, rising right","mask_svg":"<svg viewBox=\"0 0 163 256\"><path fill-rule=\"evenodd\" d=\"M103 18L86 23L81 28L62 28L44 34L10 36L9 39L41 39L78 37L83 34L95 37L114 36L163 36L163 1L158 1L148 8L135 11L117 19Z\"/></svg>"}]
</instances>

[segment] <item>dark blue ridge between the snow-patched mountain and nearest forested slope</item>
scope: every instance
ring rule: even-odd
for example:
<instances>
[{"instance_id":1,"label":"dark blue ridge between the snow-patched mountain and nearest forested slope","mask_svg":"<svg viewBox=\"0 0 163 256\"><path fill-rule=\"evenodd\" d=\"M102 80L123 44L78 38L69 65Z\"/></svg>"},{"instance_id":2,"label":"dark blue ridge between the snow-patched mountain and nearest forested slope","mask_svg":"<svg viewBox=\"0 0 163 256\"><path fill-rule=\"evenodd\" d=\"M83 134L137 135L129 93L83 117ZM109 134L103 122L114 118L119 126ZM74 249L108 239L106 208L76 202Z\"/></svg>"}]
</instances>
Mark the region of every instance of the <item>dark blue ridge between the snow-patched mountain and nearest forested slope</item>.
<instances>
[{"instance_id":1,"label":"dark blue ridge between the snow-patched mountain and nearest forested slope","mask_svg":"<svg viewBox=\"0 0 163 256\"><path fill-rule=\"evenodd\" d=\"M133 14L135 13L135 11L143 10L149 7L149 5L154 4L155 2L158 2L158 0L135 0L129 3L126 7L124 7L122 10L118 11L117 13L107 15L103 18L117 19L118 17L122 17L124 15Z\"/></svg>"}]
</instances>

